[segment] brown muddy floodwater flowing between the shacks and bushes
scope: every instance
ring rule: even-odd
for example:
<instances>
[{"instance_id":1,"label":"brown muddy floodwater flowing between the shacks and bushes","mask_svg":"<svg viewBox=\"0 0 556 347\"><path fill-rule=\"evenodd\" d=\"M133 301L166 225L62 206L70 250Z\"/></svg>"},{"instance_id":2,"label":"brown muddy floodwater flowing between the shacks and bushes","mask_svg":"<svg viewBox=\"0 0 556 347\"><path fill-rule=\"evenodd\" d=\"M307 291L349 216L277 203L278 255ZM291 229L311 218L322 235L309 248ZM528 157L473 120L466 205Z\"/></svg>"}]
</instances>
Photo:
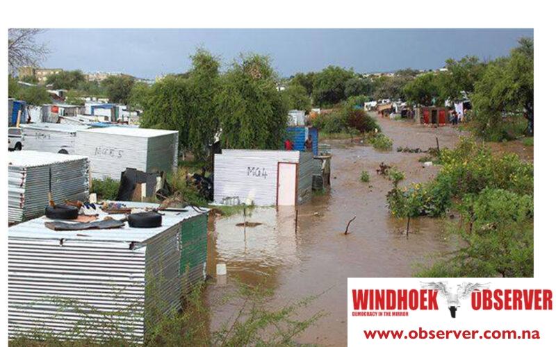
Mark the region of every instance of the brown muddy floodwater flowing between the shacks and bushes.
<instances>
[{"instance_id":1,"label":"brown muddy floodwater flowing between the shacks and bushes","mask_svg":"<svg viewBox=\"0 0 556 347\"><path fill-rule=\"evenodd\" d=\"M381 162L406 174L401 185L433 178L436 167L423 167L418 159L426 153L397 152L398 146L452 147L464 135L450 126L428 128L406 121L378 119L382 131L393 139L393 150L380 152L349 140L321 141L332 145L332 189L313 196L298 207L297 232L293 208L256 208L247 221L261 223L243 228L243 214L209 221L208 273L215 277L216 264L227 264L228 278L274 289L269 304L281 307L307 296L321 294L309 307L308 317L320 310L327 316L306 330L300 343L343 346L347 341L347 278L409 277L417 264L430 264L431 256L453 249L443 233L441 219L413 219L409 238L405 220L395 219L386 206L391 182L376 174ZM532 147L505 144L521 158L532 160ZM500 146L501 147L501 146ZM515 147L515 148L514 148ZM496 148L498 150L499 148ZM501 149L500 149L501 150ZM359 180L368 171L370 182ZM347 221L350 235L343 235ZM234 314L233 305L216 305L234 287L209 285L207 300L214 305L213 325Z\"/></svg>"}]
</instances>

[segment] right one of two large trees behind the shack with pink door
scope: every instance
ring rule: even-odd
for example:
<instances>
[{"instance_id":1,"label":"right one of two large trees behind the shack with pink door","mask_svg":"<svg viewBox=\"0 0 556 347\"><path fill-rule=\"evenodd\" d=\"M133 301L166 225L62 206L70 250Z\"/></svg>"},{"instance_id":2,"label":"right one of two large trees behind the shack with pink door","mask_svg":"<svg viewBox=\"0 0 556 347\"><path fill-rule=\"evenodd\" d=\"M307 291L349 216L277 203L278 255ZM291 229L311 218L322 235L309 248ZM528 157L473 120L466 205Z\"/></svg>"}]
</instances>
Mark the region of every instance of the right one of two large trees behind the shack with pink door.
<instances>
[{"instance_id":1,"label":"right one of two large trees behind the shack with pink door","mask_svg":"<svg viewBox=\"0 0 556 347\"><path fill-rule=\"evenodd\" d=\"M288 114L276 85L268 56L242 55L232 64L219 95L224 148L281 148Z\"/></svg>"}]
</instances>

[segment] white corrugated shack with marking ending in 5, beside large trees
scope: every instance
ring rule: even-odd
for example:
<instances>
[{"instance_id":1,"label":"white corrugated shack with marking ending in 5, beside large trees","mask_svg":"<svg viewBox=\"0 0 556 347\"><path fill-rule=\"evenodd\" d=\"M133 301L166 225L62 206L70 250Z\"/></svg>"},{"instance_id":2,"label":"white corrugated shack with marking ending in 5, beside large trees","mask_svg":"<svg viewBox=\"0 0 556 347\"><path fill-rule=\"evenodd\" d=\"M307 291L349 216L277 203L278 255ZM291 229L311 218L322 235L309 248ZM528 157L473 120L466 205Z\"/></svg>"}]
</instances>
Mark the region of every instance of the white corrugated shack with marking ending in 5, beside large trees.
<instances>
[{"instance_id":1,"label":"white corrugated shack with marking ending in 5, beside large trees","mask_svg":"<svg viewBox=\"0 0 556 347\"><path fill-rule=\"evenodd\" d=\"M91 162L93 178L120 180L126 168L169 173L178 164L178 132L111 126L77 132L76 153Z\"/></svg>"}]
</instances>

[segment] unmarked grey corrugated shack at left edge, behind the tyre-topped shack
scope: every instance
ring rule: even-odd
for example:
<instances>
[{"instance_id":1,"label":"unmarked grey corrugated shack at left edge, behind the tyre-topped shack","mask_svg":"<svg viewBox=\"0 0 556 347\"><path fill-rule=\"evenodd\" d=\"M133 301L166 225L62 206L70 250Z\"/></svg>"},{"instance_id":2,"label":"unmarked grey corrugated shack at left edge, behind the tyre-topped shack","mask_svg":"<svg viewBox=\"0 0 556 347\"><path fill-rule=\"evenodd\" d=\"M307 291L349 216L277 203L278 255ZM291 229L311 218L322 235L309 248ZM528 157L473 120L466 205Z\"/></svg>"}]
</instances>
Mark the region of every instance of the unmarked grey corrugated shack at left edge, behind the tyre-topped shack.
<instances>
[{"instance_id":1,"label":"unmarked grey corrugated shack at left edge, behind the tyre-topped shack","mask_svg":"<svg viewBox=\"0 0 556 347\"><path fill-rule=\"evenodd\" d=\"M89 160L81 155L37 151L8 152L8 222L44 214L55 203L89 195Z\"/></svg>"}]
</instances>

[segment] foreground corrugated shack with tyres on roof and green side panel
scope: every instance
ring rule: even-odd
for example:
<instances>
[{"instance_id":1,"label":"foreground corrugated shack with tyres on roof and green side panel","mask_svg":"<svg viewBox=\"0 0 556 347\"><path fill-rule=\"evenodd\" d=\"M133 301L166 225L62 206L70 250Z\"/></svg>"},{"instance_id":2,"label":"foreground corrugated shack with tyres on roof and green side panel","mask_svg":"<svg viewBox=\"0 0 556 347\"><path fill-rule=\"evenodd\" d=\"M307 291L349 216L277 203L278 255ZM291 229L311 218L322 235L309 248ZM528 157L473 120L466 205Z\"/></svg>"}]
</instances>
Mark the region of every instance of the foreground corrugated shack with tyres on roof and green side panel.
<instances>
[{"instance_id":1,"label":"foreground corrugated shack with tyres on roof and green side panel","mask_svg":"<svg viewBox=\"0 0 556 347\"><path fill-rule=\"evenodd\" d=\"M142 343L206 277L207 211L165 211L158 228L54 231L46 217L8 228L9 337L40 330Z\"/></svg>"}]
</instances>

